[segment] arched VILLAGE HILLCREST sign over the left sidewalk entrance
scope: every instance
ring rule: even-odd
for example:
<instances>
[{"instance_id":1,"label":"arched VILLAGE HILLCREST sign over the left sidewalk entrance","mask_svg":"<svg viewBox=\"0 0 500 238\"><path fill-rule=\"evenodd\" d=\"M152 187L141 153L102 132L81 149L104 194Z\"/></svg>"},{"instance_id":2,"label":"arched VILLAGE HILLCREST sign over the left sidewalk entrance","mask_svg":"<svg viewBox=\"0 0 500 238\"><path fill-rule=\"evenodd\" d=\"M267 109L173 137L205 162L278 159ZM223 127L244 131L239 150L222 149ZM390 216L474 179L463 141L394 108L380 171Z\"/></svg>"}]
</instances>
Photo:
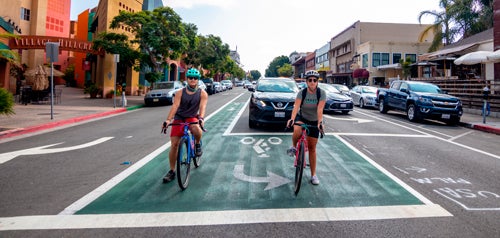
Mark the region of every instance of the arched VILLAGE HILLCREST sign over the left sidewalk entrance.
<instances>
[{"instance_id":1,"label":"arched VILLAGE HILLCREST sign over the left sidewalk entrance","mask_svg":"<svg viewBox=\"0 0 500 238\"><path fill-rule=\"evenodd\" d=\"M53 37L53 36L20 36L19 38L12 38L9 40L9 47L11 49L45 49L47 42L59 43L60 50L84 52L92 54L103 54L104 52L97 52L92 50L92 42L76 40L71 38Z\"/></svg>"}]
</instances>

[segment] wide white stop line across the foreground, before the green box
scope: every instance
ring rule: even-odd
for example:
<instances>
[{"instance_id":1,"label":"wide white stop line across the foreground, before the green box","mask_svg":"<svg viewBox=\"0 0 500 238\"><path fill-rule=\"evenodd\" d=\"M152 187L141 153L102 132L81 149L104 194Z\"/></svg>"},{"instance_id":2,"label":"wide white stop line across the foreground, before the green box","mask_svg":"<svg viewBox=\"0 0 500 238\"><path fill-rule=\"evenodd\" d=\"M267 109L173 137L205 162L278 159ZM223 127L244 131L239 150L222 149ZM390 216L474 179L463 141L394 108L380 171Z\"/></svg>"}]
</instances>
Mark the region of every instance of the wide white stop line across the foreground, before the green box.
<instances>
[{"instance_id":1,"label":"wide white stop line across the foreground, before the green box","mask_svg":"<svg viewBox=\"0 0 500 238\"><path fill-rule=\"evenodd\" d=\"M0 218L0 231L174 227L305 221L355 221L449 216L452 216L452 214L436 204L171 213L18 216Z\"/></svg>"}]
</instances>

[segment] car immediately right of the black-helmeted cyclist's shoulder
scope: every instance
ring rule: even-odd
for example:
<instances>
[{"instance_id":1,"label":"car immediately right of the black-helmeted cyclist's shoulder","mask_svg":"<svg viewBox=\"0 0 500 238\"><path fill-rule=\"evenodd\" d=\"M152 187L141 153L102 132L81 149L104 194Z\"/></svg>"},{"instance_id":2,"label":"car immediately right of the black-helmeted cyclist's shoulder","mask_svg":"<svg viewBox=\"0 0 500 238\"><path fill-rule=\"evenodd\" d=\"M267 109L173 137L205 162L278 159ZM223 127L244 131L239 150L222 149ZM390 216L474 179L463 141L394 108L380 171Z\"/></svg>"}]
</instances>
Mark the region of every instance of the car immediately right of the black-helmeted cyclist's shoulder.
<instances>
[{"instance_id":1,"label":"car immediately right of the black-helmeted cyclist's shoulder","mask_svg":"<svg viewBox=\"0 0 500 238\"><path fill-rule=\"evenodd\" d=\"M335 86L326 83L319 83L318 86L327 93L323 112L341 112L342 114L348 114L353 110L354 103L351 97L340 93Z\"/></svg>"}]
</instances>

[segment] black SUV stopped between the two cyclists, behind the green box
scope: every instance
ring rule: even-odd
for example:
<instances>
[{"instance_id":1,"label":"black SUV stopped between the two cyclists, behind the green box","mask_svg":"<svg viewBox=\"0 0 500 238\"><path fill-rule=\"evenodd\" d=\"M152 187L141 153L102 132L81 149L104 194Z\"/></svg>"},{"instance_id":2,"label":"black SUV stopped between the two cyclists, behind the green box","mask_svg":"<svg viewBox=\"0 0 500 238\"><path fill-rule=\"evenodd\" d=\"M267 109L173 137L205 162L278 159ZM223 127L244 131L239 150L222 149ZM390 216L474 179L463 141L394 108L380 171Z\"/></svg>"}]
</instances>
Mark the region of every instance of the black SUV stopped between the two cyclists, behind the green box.
<instances>
[{"instance_id":1,"label":"black SUV stopped between the two cyclists, behind the green box","mask_svg":"<svg viewBox=\"0 0 500 238\"><path fill-rule=\"evenodd\" d=\"M249 103L248 126L263 124L286 125L293 110L299 88L292 79L262 78L252 91Z\"/></svg>"}]
</instances>

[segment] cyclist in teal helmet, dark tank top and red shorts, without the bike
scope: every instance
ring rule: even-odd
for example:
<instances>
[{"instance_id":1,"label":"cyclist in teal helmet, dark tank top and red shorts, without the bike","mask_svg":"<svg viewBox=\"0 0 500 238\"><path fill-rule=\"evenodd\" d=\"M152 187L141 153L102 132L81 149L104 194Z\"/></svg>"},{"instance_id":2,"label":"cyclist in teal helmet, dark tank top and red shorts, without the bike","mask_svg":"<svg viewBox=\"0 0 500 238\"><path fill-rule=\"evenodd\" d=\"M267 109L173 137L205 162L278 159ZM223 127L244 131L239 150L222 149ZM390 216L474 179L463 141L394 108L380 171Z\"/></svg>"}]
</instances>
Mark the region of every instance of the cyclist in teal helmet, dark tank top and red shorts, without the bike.
<instances>
[{"instance_id":1,"label":"cyclist in teal helmet, dark tank top and red shorts, without the bike","mask_svg":"<svg viewBox=\"0 0 500 238\"><path fill-rule=\"evenodd\" d=\"M198 124L190 125L189 129L195 137L195 154L202 155L200 140L203 134L200 126L203 126L203 117L205 117L205 109L208 101L208 94L205 90L198 87L200 80L200 71L191 68L186 72L187 85L175 94L174 103L168 113L166 125L180 122L197 122ZM170 131L170 152L168 154L170 162L170 170L163 181L170 182L175 179L175 163L177 158L177 148L184 134L183 126L173 125Z\"/></svg>"}]
</instances>

